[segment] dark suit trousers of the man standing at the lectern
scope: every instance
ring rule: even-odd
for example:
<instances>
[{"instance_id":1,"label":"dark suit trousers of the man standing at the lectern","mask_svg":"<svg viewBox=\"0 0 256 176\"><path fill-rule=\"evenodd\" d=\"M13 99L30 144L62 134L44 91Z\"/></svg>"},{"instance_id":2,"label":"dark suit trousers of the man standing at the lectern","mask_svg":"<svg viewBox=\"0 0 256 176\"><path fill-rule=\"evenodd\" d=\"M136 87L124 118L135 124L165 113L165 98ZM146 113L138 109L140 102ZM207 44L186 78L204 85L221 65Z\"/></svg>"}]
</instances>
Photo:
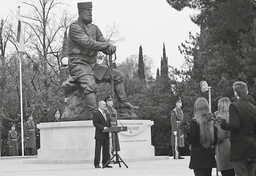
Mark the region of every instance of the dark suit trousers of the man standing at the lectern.
<instances>
[{"instance_id":1,"label":"dark suit trousers of the man standing at the lectern","mask_svg":"<svg viewBox=\"0 0 256 176\"><path fill-rule=\"evenodd\" d=\"M102 165L105 165L110 159L109 156L109 139L96 139L94 166L100 164L102 146Z\"/></svg>"}]
</instances>

